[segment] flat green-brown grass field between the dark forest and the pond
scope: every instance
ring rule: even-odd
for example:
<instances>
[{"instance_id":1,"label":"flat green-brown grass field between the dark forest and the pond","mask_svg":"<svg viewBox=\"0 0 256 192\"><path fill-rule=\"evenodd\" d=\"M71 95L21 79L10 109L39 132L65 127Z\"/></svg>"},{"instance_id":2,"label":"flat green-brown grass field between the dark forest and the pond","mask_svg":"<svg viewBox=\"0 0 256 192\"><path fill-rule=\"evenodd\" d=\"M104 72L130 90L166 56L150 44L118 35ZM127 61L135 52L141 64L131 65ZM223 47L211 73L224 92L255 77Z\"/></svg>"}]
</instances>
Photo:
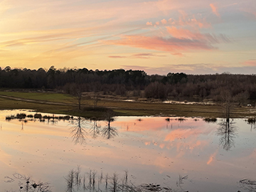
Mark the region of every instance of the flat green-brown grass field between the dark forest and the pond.
<instances>
[{"instance_id":1,"label":"flat green-brown grass field between the dark forest and the pond","mask_svg":"<svg viewBox=\"0 0 256 192\"><path fill-rule=\"evenodd\" d=\"M93 108L93 100L83 99L82 110L78 110L75 98L60 93L41 92L0 92L0 110L30 109L38 112L55 114L79 115L82 117L104 116L104 108L111 108L117 115L144 116L162 115L178 117L223 117L220 105L186 105L167 104L161 102L125 102L116 100L99 100ZM21 100L14 100L19 98ZM26 100L30 100L29 102ZM48 104L47 102L51 102ZM103 107L103 108L102 108ZM233 107L231 117L254 117L255 109L248 107Z\"/></svg>"}]
</instances>

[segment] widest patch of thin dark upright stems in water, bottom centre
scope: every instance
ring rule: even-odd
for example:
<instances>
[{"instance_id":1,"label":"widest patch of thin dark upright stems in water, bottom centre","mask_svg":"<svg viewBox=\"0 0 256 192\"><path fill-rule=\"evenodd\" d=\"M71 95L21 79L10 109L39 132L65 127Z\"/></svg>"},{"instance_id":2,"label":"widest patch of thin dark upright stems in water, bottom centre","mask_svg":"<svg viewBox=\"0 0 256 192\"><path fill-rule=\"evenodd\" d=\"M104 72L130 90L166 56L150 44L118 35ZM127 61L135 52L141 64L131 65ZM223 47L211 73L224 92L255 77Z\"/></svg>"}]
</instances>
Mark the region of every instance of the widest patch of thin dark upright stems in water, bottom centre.
<instances>
[{"instance_id":1,"label":"widest patch of thin dark upright stems in water, bottom centre","mask_svg":"<svg viewBox=\"0 0 256 192\"><path fill-rule=\"evenodd\" d=\"M68 176L64 176L64 178L67 192L183 192L182 186L188 179L188 176L179 176L176 182L177 186L173 186L174 188L171 188L168 183L164 183L164 186L156 183L142 183L137 186L135 185L136 178L134 176L129 178L127 170L124 171L124 174L113 173L103 176L102 172L97 175L97 171L91 169L89 172L82 174L81 168L78 166L77 169L70 170Z\"/></svg>"}]
</instances>

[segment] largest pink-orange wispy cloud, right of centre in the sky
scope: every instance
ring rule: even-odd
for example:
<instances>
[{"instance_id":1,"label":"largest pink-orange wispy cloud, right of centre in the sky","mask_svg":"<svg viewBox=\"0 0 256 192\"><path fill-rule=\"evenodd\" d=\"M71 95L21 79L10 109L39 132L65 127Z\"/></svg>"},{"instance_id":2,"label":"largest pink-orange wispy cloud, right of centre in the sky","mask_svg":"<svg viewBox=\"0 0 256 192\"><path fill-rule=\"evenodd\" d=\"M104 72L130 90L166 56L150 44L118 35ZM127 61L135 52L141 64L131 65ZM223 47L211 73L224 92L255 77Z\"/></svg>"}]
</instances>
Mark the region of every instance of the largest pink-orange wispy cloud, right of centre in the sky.
<instances>
[{"instance_id":1,"label":"largest pink-orange wispy cloud, right of centre in the sky","mask_svg":"<svg viewBox=\"0 0 256 192\"><path fill-rule=\"evenodd\" d=\"M105 43L183 55L184 51L189 50L216 50L217 48L213 46L213 43L231 42L224 34L201 33L199 29L210 28L210 24L203 19L198 21L195 16L191 18L185 11L180 11L178 21L170 18L167 22L166 19L162 19L161 23L156 21L154 27L156 28L160 24L170 25L166 26L166 29L161 28L161 36L120 36L117 40L105 41ZM148 21L146 25L150 26L151 22Z\"/></svg>"}]
</instances>

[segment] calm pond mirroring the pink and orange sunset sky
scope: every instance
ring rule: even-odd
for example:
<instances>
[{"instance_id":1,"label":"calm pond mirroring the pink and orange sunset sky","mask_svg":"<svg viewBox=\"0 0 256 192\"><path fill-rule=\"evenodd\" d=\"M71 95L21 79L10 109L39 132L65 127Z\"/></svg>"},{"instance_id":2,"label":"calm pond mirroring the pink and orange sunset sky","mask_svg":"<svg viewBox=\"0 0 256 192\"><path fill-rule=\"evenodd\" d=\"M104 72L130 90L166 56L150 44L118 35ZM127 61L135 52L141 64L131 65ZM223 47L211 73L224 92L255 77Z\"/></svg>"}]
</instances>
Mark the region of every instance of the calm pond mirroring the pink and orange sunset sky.
<instances>
[{"instance_id":1,"label":"calm pond mirroring the pink and orange sunset sky","mask_svg":"<svg viewBox=\"0 0 256 192\"><path fill-rule=\"evenodd\" d=\"M6 120L21 113L31 117ZM0 111L4 191L256 190L256 129L246 119L114 117L109 127L35 114Z\"/></svg>"}]
</instances>

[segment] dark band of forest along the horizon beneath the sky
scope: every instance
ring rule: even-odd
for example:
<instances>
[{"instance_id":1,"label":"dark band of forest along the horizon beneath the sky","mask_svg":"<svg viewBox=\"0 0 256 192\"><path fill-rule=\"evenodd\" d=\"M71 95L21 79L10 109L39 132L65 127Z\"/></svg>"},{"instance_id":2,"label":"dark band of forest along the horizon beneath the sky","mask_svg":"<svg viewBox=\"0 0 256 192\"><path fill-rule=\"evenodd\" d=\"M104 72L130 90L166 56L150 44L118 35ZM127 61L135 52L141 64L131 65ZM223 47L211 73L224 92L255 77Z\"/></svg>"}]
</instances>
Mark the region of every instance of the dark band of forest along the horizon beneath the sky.
<instances>
[{"instance_id":1,"label":"dark band of forest along the horizon beneath the sky","mask_svg":"<svg viewBox=\"0 0 256 192\"><path fill-rule=\"evenodd\" d=\"M166 100L174 97L220 101L228 91L240 104L256 99L256 75L147 75L143 70L88 70L87 68L48 70L39 68L0 68L1 89L56 90L71 94L75 88L103 95L127 95Z\"/></svg>"}]
</instances>

